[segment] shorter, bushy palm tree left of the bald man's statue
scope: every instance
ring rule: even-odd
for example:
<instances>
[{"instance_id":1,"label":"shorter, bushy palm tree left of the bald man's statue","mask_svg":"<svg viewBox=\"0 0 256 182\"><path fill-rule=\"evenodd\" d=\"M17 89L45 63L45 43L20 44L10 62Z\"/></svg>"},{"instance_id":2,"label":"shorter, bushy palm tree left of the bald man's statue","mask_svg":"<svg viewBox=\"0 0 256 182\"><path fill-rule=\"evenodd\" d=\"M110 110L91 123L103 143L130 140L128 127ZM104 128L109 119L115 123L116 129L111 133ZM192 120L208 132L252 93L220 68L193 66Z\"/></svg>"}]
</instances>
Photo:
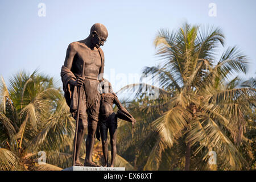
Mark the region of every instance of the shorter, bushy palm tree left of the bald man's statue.
<instances>
[{"instance_id":1,"label":"shorter, bushy palm tree left of the bald man's statue","mask_svg":"<svg viewBox=\"0 0 256 182\"><path fill-rule=\"evenodd\" d=\"M36 163L39 151L59 167L72 163L75 122L53 78L21 71L0 81L0 170L60 169Z\"/></svg>"}]
</instances>

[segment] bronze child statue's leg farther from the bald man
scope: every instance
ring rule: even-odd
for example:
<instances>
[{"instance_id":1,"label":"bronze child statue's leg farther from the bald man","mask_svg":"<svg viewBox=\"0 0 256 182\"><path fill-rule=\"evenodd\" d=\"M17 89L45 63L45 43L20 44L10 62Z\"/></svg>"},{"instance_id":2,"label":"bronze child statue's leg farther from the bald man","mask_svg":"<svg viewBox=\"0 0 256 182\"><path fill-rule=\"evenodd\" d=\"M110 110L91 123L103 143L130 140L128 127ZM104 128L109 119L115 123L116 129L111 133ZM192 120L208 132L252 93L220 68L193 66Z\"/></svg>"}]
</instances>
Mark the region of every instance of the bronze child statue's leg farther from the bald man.
<instances>
[{"instance_id":1,"label":"bronze child statue's leg farther from the bald man","mask_svg":"<svg viewBox=\"0 0 256 182\"><path fill-rule=\"evenodd\" d=\"M110 167L114 167L115 156L117 155L117 118L114 116L111 118L109 125L110 144L111 144L111 164Z\"/></svg>"}]
</instances>

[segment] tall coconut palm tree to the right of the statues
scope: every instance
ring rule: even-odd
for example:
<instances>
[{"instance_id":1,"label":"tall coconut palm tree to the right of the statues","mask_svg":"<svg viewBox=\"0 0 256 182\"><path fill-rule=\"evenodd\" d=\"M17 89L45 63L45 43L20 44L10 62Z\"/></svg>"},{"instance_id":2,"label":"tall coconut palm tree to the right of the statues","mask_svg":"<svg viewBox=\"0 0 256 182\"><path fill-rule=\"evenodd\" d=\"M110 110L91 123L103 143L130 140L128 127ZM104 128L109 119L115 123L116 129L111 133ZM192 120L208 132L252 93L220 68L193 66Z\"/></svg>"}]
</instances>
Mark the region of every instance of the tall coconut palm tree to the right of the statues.
<instances>
[{"instance_id":1,"label":"tall coconut palm tree to the right of the statues","mask_svg":"<svg viewBox=\"0 0 256 182\"><path fill-rule=\"evenodd\" d=\"M185 23L177 31L158 32L154 44L159 64L143 71L146 77L158 77L158 99L149 100L140 92L142 88L154 90L154 85L127 85L119 91L137 89L137 99L130 104L130 110L137 114L137 123L141 122L133 138L124 132L129 131L125 130L127 124L120 128L120 138L126 138L123 154L137 146L136 155L144 164L143 169L155 170L161 163L176 160L170 156L175 156L172 147L177 148L178 143L179 163L185 170L191 166L211 169L210 151L217 154L218 169L248 167L241 147L248 143L245 115L255 106L256 90L237 84L238 74L247 73L248 63L247 56L237 47L226 49L218 59L217 48L224 42L220 28Z\"/></svg>"}]
</instances>

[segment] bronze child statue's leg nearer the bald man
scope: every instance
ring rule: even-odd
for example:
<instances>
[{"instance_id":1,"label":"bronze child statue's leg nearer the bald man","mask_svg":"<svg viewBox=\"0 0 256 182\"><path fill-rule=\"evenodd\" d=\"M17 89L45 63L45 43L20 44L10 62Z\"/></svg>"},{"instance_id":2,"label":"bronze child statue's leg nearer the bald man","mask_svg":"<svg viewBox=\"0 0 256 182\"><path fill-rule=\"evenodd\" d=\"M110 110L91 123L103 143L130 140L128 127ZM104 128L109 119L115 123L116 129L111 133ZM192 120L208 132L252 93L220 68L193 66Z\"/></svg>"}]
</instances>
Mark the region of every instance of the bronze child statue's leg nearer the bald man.
<instances>
[{"instance_id":1,"label":"bronze child statue's leg nearer the bald man","mask_svg":"<svg viewBox=\"0 0 256 182\"><path fill-rule=\"evenodd\" d=\"M104 167L108 166L108 127L106 127L105 123L101 123L100 126L101 133L101 143L102 143L102 151L104 155L105 164Z\"/></svg>"}]
</instances>

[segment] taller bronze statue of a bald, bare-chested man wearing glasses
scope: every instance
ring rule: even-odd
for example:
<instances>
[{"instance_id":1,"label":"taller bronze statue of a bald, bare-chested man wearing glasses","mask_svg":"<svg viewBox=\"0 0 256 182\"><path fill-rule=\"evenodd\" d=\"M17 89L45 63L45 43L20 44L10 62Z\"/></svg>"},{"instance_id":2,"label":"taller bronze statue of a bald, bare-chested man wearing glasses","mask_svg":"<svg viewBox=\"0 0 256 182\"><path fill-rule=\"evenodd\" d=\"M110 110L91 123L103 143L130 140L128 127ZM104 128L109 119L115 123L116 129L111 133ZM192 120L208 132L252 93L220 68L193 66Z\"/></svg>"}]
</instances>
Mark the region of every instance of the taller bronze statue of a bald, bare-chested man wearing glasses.
<instances>
[{"instance_id":1,"label":"taller bronze statue of a bald, bare-chested man wearing glasses","mask_svg":"<svg viewBox=\"0 0 256 182\"><path fill-rule=\"evenodd\" d=\"M88 38L69 44L64 65L61 67L65 100L74 118L78 109L78 90L81 88L75 166L82 166L79 155L86 129L88 135L85 142L84 166L97 166L92 162L92 150L101 100L97 87L104 73L104 52L100 46L104 45L107 38L106 27L101 23L93 24ZM82 73L83 67L84 73Z\"/></svg>"}]
</instances>

